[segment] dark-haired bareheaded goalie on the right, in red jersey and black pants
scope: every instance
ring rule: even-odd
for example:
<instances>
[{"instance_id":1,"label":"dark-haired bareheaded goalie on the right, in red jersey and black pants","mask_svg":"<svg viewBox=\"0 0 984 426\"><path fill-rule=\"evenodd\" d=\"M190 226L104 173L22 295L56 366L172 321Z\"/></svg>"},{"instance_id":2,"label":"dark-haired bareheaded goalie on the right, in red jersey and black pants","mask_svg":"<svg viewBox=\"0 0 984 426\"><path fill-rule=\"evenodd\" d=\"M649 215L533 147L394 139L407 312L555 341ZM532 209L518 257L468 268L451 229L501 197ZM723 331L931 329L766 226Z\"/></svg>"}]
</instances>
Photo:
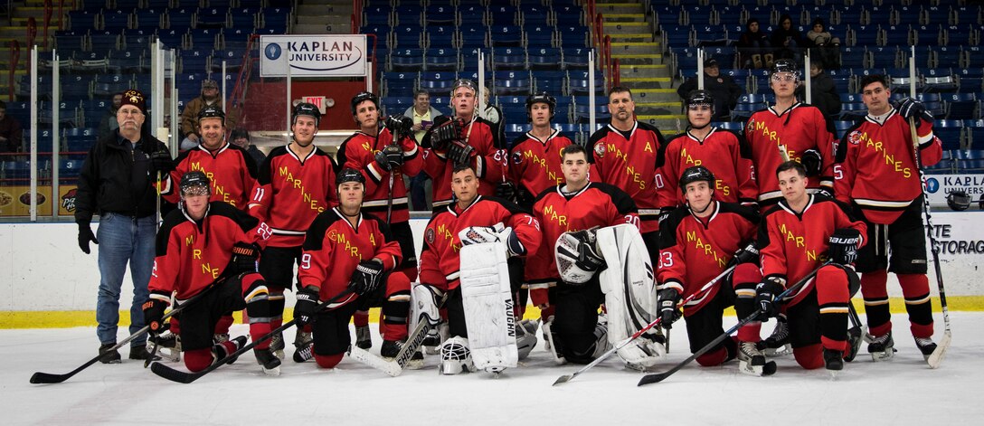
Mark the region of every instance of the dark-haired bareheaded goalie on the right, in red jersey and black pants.
<instances>
[{"instance_id":1,"label":"dark-haired bareheaded goalie on the right, in red jersey and black pants","mask_svg":"<svg viewBox=\"0 0 984 426\"><path fill-rule=\"evenodd\" d=\"M562 157L565 183L541 192L533 205L533 213L543 227L543 244L527 260L526 277L533 304L542 311L543 330L554 359L558 363L586 364L611 347L608 324L598 317L598 306L606 299L600 274L594 274L603 261L591 240L593 228L625 223L638 226L639 215L636 204L624 191L588 180L590 164L584 147L569 145ZM570 235L568 232L589 240L579 245L584 253L578 253L576 263L579 270L592 274L584 282L562 281L565 271L557 267L554 247L563 235Z\"/></svg>"}]
</instances>

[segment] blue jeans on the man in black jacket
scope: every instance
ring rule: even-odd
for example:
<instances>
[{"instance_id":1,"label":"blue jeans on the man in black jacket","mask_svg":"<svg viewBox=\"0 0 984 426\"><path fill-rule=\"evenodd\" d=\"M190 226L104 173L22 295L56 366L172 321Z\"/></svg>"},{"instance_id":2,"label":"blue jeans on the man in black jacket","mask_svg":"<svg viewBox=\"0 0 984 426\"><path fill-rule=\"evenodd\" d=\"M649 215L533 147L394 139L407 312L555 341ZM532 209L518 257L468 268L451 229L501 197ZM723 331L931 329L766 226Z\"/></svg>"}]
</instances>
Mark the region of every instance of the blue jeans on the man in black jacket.
<instances>
[{"instance_id":1,"label":"blue jeans on the man in black jacket","mask_svg":"<svg viewBox=\"0 0 984 426\"><path fill-rule=\"evenodd\" d=\"M130 334L144 328L142 305L148 299L147 284L154 269L154 215L135 219L130 216L104 213L99 217L95 238L99 240L99 295L95 303L95 335L102 344L116 342L119 323L120 290L127 263L133 279L133 303L130 306ZM147 335L130 341L142 346Z\"/></svg>"}]
</instances>

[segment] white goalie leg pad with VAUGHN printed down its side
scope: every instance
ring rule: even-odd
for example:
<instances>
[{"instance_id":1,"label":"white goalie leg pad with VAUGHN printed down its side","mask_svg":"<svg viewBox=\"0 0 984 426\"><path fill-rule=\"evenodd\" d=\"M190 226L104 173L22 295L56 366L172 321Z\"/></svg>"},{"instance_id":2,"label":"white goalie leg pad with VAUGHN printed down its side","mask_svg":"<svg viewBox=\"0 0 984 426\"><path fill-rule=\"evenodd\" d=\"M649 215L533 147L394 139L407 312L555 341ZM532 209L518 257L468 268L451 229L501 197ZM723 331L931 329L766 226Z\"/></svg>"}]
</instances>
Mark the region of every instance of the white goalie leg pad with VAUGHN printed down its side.
<instances>
[{"instance_id":1,"label":"white goalie leg pad with VAUGHN printed down its side","mask_svg":"<svg viewBox=\"0 0 984 426\"><path fill-rule=\"evenodd\" d=\"M475 368L516 367L516 317L506 246L502 242L461 247L461 304Z\"/></svg>"}]
</instances>

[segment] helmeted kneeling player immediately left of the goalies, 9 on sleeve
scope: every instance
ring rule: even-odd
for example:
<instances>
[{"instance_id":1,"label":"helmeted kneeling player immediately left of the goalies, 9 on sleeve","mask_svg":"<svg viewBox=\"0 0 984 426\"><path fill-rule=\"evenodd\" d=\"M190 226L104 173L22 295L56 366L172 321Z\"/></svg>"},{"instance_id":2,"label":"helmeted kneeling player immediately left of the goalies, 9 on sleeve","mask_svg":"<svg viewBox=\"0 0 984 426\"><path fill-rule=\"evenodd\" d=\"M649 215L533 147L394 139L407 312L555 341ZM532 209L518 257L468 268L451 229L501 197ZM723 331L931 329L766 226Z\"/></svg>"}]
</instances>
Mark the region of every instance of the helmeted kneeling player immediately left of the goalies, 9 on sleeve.
<instances>
[{"instance_id":1,"label":"helmeted kneeling player immediately left of the goalies, 9 on sleeve","mask_svg":"<svg viewBox=\"0 0 984 426\"><path fill-rule=\"evenodd\" d=\"M396 357L406 337L410 309L410 280L400 272L400 243L387 224L371 214L362 214L365 176L344 168L336 179L340 205L319 213L304 238L300 290L294 316L298 327L311 324L314 341L294 353L294 361L314 357L318 366L334 368L348 350L348 323L358 309L383 307L383 346L380 354ZM348 294L327 310L319 302Z\"/></svg>"}]
</instances>

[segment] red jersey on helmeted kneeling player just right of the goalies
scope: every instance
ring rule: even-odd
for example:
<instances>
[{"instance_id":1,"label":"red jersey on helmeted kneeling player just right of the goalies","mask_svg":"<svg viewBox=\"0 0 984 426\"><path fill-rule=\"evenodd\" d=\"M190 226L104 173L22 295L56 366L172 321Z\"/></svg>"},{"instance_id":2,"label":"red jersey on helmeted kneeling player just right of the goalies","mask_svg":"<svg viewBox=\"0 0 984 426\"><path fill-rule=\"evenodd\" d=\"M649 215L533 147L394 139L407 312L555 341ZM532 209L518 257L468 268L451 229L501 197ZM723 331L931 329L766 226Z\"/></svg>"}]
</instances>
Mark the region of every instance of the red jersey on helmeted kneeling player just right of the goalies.
<instances>
[{"instance_id":1,"label":"red jersey on helmeted kneeling player just right of the goalies","mask_svg":"<svg viewBox=\"0 0 984 426\"><path fill-rule=\"evenodd\" d=\"M759 229L757 211L720 202L712 202L709 209L707 217L698 217L690 209L677 209L660 223L656 268L660 288L674 288L689 297L724 271L735 252L755 239ZM721 285L711 286L687 303L684 315L701 310L713 300Z\"/></svg>"}]
</instances>

